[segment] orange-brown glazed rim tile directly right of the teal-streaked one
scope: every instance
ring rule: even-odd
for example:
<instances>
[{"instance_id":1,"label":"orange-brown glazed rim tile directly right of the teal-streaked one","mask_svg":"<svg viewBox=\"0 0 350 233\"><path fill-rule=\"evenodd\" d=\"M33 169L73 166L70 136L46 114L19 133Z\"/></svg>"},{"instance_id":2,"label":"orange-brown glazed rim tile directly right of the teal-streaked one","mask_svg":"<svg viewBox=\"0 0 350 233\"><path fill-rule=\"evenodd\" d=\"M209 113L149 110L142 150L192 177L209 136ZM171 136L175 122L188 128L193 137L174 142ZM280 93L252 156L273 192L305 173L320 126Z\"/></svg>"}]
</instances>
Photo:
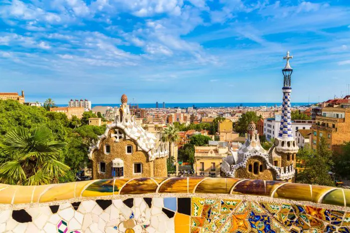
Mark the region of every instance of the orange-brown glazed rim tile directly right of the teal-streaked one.
<instances>
[{"instance_id":1,"label":"orange-brown glazed rim tile directly right of the teal-streaked one","mask_svg":"<svg viewBox=\"0 0 350 233\"><path fill-rule=\"evenodd\" d=\"M149 178L138 178L127 183L120 191L120 194L147 194L155 193L157 184Z\"/></svg>"}]
</instances>

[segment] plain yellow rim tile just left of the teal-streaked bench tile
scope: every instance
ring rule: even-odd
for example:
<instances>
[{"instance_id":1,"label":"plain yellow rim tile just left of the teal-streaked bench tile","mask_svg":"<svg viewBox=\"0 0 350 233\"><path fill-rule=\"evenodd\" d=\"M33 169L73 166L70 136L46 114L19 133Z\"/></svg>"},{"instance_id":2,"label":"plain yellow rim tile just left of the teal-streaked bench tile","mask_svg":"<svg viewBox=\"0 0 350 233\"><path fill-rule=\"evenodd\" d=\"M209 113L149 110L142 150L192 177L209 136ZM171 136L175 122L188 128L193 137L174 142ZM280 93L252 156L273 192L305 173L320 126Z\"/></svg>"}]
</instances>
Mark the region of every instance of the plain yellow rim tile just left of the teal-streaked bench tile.
<instances>
[{"instance_id":1,"label":"plain yellow rim tile just left of the teal-streaked bench tile","mask_svg":"<svg viewBox=\"0 0 350 233\"><path fill-rule=\"evenodd\" d=\"M53 202L58 200L68 200L74 198L75 182L65 184L55 184L40 197L39 202Z\"/></svg>"}]
</instances>

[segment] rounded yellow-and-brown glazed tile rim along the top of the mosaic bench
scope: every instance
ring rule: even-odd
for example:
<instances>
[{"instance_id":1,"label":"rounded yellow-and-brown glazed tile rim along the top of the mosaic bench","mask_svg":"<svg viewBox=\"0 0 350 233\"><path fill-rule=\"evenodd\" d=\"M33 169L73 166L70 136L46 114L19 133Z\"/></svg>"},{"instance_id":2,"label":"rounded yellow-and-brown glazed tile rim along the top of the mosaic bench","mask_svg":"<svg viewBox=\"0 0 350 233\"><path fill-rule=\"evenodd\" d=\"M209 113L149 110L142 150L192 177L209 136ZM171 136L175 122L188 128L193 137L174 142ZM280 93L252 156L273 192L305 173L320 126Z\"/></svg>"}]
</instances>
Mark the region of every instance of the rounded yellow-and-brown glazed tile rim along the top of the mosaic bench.
<instances>
[{"instance_id":1,"label":"rounded yellow-and-brown glazed tile rim along the top of the mosaic bench","mask_svg":"<svg viewBox=\"0 0 350 233\"><path fill-rule=\"evenodd\" d=\"M350 190L347 189L281 181L207 177L126 178L31 187L0 184L0 204L47 203L78 197L145 193L257 195L350 207ZM79 207L78 203L75 205L75 208Z\"/></svg>"}]
</instances>

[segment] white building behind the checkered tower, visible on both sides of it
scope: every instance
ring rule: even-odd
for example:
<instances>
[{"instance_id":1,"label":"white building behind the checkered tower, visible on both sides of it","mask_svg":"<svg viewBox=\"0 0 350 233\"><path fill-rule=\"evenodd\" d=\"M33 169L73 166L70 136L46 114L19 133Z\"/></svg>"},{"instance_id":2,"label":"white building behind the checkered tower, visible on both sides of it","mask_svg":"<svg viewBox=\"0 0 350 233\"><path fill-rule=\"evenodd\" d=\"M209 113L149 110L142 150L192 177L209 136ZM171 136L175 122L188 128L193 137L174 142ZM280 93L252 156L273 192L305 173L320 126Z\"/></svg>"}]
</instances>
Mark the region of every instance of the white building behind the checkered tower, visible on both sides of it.
<instances>
[{"instance_id":1,"label":"white building behind the checkered tower, visible on both sides of it","mask_svg":"<svg viewBox=\"0 0 350 233\"><path fill-rule=\"evenodd\" d=\"M271 138L278 137L279 126L280 126L280 114L275 114L274 118L267 118L263 120L263 134L266 136L266 140L270 141ZM291 129L293 137L296 138L296 130L299 129L310 129L315 121L310 120L294 120L291 122Z\"/></svg>"}]
</instances>

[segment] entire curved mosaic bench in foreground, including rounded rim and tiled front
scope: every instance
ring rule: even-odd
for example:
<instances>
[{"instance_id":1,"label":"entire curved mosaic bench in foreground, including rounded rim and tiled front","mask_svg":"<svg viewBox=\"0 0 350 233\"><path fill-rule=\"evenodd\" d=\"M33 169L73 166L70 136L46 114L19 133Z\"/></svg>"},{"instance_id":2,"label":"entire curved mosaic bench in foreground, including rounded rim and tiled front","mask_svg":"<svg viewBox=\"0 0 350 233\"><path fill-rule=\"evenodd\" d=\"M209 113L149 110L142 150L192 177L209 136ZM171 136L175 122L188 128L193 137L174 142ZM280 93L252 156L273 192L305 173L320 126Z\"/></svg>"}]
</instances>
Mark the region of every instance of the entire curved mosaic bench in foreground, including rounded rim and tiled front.
<instances>
[{"instance_id":1,"label":"entire curved mosaic bench in foreground, including rounded rim and tiled front","mask_svg":"<svg viewBox=\"0 0 350 233\"><path fill-rule=\"evenodd\" d=\"M0 184L0 232L350 233L350 190L203 177Z\"/></svg>"}]
</instances>

